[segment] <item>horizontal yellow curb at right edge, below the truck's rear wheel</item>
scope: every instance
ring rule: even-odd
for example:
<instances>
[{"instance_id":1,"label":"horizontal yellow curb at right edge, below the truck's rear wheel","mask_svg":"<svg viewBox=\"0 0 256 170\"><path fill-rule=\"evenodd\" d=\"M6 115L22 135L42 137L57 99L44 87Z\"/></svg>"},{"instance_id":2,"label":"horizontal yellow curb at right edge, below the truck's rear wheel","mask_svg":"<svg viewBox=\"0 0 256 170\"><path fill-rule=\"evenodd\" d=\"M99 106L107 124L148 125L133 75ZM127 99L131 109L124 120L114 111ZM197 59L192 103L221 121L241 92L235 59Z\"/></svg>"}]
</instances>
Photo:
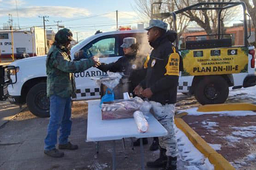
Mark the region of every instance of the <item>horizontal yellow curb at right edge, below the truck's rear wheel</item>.
<instances>
[{"instance_id":1,"label":"horizontal yellow curb at right edge, below the truck's rear wheel","mask_svg":"<svg viewBox=\"0 0 256 170\"><path fill-rule=\"evenodd\" d=\"M197 109L197 112L221 111L256 111L256 105L251 103L207 104Z\"/></svg>"}]
</instances>

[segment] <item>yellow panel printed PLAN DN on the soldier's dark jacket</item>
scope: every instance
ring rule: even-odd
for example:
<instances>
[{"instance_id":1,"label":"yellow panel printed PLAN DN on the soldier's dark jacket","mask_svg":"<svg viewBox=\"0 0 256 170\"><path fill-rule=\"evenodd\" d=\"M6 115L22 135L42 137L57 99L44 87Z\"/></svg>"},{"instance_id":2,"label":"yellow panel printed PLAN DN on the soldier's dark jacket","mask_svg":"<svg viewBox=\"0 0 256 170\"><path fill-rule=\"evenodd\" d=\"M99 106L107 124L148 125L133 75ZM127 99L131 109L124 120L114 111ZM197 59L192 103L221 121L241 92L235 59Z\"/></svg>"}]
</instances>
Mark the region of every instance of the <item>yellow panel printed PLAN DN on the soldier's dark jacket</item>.
<instances>
[{"instance_id":1,"label":"yellow panel printed PLAN DN on the soldier's dark jacket","mask_svg":"<svg viewBox=\"0 0 256 170\"><path fill-rule=\"evenodd\" d=\"M177 75L179 76L180 56L176 53L176 49L173 46L173 53L170 54L168 63L166 65L166 74L164 75Z\"/></svg>"}]
</instances>

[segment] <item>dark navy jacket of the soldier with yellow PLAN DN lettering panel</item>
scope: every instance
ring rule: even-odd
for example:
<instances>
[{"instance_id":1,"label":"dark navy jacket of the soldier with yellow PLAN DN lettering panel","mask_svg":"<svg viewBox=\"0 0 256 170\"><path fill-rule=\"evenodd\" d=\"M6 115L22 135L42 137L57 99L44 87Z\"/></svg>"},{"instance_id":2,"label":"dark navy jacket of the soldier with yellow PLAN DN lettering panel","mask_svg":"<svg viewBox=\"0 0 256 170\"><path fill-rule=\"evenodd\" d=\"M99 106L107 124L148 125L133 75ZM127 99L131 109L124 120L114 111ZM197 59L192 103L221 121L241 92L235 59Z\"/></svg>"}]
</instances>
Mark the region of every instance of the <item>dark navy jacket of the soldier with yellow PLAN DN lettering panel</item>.
<instances>
[{"instance_id":1,"label":"dark navy jacket of the soldier with yellow PLAN DN lettering panel","mask_svg":"<svg viewBox=\"0 0 256 170\"><path fill-rule=\"evenodd\" d=\"M150 45L154 48L150 54L150 60L147 63L147 74L146 78L142 80L140 85L145 88L150 88L153 95L149 99L151 101L156 101L161 104L174 104L177 98L177 85L179 80L179 74L176 75L166 75L166 66L170 65L170 54L174 53L174 45L168 39L167 35L158 37ZM177 53L178 50L175 48ZM182 61L179 56L179 61L176 64L179 65L177 73L179 73L179 68L182 69Z\"/></svg>"}]
</instances>

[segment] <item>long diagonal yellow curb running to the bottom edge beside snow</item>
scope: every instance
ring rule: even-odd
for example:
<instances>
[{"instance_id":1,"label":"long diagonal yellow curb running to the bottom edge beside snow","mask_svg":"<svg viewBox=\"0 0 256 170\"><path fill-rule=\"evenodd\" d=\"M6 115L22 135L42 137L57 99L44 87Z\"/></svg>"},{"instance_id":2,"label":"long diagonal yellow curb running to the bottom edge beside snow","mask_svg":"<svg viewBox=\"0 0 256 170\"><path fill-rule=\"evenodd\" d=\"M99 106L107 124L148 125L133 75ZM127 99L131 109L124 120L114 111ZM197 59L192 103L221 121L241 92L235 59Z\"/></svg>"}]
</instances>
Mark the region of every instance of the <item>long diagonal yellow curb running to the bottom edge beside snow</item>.
<instances>
[{"instance_id":1,"label":"long diagonal yellow curb running to the bottom edge beside snow","mask_svg":"<svg viewBox=\"0 0 256 170\"><path fill-rule=\"evenodd\" d=\"M226 160L222 155L218 154L212 147L204 141L190 126L181 118L188 113L181 113L175 116L175 124L177 128L181 129L185 135L187 135L189 141L202 153L206 158L209 159L209 162L214 165L214 169L217 170L235 170L235 168Z\"/></svg>"}]
</instances>

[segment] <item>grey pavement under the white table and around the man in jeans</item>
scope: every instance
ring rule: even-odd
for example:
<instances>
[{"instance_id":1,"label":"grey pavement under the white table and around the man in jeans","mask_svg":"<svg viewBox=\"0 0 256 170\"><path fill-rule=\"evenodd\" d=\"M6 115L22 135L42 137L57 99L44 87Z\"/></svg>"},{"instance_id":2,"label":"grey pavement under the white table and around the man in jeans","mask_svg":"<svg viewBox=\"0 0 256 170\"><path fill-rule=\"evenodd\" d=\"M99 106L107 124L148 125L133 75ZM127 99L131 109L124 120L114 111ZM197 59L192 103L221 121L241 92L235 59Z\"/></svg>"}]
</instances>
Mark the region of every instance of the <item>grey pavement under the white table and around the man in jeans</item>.
<instances>
[{"instance_id":1,"label":"grey pavement under the white table and around the man in jeans","mask_svg":"<svg viewBox=\"0 0 256 170\"><path fill-rule=\"evenodd\" d=\"M43 154L49 119L35 117L29 111L19 113L0 129L0 169L112 169L112 141L100 142L98 155L96 143L85 142L86 116L87 106L75 102L70 139L80 148L65 151L64 158L53 159ZM131 150L130 140L125 143L128 158L121 141L117 142L117 169L140 169L139 147ZM159 151L149 151L148 147L144 146L145 160L156 159Z\"/></svg>"}]
</instances>

